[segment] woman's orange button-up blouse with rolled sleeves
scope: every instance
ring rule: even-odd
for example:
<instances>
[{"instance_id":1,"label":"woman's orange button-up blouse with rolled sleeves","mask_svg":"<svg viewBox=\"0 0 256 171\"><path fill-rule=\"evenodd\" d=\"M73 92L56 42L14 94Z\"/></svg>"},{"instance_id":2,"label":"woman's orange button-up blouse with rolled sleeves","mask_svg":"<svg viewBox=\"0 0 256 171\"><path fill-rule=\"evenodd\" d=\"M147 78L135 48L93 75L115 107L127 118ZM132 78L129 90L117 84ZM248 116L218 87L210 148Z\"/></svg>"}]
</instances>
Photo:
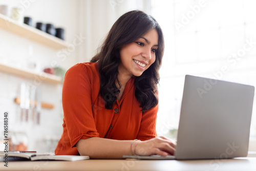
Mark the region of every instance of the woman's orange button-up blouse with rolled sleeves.
<instances>
[{"instance_id":1,"label":"woman's orange button-up blouse with rolled sleeves","mask_svg":"<svg viewBox=\"0 0 256 171\"><path fill-rule=\"evenodd\" d=\"M141 111L135 97L134 77L125 86L120 101L105 109L101 97L98 62L78 63L65 76L62 89L63 133L56 155L78 155L76 143L90 137L115 140L147 140L157 136L158 105Z\"/></svg>"}]
</instances>

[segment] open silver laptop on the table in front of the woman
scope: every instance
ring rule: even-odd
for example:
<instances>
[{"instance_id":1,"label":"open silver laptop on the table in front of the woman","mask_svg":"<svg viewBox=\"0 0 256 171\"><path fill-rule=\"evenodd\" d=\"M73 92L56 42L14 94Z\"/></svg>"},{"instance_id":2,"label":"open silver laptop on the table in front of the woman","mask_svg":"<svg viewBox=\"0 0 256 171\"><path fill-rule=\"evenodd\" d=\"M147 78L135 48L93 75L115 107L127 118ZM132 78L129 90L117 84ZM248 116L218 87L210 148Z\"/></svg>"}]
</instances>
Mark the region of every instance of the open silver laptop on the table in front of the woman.
<instances>
[{"instance_id":1,"label":"open silver laptop on the table in front of the woman","mask_svg":"<svg viewBox=\"0 0 256 171\"><path fill-rule=\"evenodd\" d=\"M248 154L254 87L185 76L174 156L138 159L226 159Z\"/></svg>"}]
</instances>

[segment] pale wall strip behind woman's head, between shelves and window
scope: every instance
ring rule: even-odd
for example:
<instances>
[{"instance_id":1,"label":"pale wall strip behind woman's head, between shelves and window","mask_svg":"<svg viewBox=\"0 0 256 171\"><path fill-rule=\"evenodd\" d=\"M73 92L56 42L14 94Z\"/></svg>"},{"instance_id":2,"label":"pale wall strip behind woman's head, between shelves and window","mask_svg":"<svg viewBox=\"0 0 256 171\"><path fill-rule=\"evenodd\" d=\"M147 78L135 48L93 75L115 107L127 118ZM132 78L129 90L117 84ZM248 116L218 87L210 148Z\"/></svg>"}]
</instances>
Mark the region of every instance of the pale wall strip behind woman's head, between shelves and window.
<instances>
[{"instance_id":1,"label":"pale wall strip behind woman's head, between shelves and window","mask_svg":"<svg viewBox=\"0 0 256 171\"><path fill-rule=\"evenodd\" d=\"M79 32L86 36L79 47L79 62L89 61L115 21L131 10L151 11L151 0L80 0Z\"/></svg>"}]
</instances>

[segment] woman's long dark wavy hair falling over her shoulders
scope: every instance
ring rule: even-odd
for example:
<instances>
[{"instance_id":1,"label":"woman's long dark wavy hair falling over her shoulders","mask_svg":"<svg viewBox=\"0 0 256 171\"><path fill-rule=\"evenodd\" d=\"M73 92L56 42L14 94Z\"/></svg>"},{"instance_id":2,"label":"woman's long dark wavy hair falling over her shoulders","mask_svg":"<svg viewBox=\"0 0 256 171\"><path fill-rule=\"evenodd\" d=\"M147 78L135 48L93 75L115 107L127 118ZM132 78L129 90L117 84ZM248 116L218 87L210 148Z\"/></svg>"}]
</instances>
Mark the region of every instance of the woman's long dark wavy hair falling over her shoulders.
<instances>
[{"instance_id":1,"label":"woman's long dark wavy hair falling over her shoulders","mask_svg":"<svg viewBox=\"0 0 256 171\"><path fill-rule=\"evenodd\" d=\"M99 52L91 62L99 62L100 94L105 101L105 108L112 109L116 95L120 92L115 81L118 81L118 66L120 63L120 49L131 44L151 29L158 33L158 49L155 62L145 70L141 76L135 78L135 96L140 102L142 111L153 108L158 104L157 84L159 69L164 51L162 29L157 21L143 11L134 10L123 14L112 26Z\"/></svg>"}]
</instances>

